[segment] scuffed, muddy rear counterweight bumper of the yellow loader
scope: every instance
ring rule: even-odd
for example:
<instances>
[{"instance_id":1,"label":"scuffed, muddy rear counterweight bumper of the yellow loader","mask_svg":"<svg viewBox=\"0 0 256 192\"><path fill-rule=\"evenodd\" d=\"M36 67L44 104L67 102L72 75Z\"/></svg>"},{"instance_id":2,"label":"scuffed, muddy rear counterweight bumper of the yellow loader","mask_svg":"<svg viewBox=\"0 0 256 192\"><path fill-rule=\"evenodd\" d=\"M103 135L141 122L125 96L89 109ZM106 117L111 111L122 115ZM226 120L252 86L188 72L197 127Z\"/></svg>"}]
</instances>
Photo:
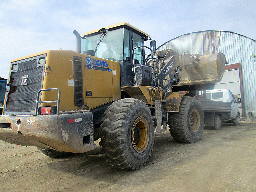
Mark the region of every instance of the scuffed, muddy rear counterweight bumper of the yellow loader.
<instances>
[{"instance_id":1,"label":"scuffed, muddy rear counterweight bumper of the yellow loader","mask_svg":"<svg viewBox=\"0 0 256 192\"><path fill-rule=\"evenodd\" d=\"M83 153L94 149L92 113L1 115L0 139L12 144Z\"/></svg>"}]
</instances>

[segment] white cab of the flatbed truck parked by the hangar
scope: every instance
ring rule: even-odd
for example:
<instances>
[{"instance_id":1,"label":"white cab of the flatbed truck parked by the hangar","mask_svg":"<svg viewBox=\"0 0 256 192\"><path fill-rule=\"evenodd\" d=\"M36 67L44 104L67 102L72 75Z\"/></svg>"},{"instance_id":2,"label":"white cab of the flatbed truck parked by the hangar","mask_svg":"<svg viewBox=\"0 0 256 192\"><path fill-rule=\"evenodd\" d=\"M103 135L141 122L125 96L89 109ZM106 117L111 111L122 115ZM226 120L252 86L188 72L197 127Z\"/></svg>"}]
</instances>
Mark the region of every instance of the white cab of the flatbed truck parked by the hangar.
<instances>
[{"instance_id":1,"label":"white cab of the flatbed truck parked by the hangar","mask_svg":"<svg viewBox=\"0 0 256 192\"><path fill-rule=\"evenodd\" d=\"M240 112L238 103L241 103L241 98L238 98L238 101L234 98L232 92L228 89L212 89L206 90L206 98L213 100L213 101L224 101L231 103L231 112L229 120L221 119L224 122L232 122L233 125L239 126L241 119L240 119Z\"/></svg>"}]
</instances>

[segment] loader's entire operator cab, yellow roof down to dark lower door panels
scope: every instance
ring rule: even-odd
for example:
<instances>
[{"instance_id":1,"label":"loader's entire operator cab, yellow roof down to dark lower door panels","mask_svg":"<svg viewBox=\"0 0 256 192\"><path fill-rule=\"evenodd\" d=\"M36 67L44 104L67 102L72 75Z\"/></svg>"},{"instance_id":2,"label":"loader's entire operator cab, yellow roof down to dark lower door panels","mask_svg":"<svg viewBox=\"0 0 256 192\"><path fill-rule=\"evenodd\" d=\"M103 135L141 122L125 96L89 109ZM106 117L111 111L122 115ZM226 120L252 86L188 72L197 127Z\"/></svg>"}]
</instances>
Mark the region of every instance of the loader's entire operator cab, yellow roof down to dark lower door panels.
<instances>
[{"instance_id":1,"label":"loader's entire operator cab, yellow roof down to dark lower door panels","mask_svg":"<svg viewBox=\"0 0 256 192\"><path fill-rule=\"evenodd\" d=\"M82 37L77 31L74 31L74 34L77 36L77 52L118 61L121 86L135 85L132 50L144 45L144 41L150 38L148 34L125 22L84 33ZM136 65L145 65L144 56L144 47L134 50ZM136 70L142 73L139 84L150 86L151 68L144 66Z\"/></svg>"}]
</instances>

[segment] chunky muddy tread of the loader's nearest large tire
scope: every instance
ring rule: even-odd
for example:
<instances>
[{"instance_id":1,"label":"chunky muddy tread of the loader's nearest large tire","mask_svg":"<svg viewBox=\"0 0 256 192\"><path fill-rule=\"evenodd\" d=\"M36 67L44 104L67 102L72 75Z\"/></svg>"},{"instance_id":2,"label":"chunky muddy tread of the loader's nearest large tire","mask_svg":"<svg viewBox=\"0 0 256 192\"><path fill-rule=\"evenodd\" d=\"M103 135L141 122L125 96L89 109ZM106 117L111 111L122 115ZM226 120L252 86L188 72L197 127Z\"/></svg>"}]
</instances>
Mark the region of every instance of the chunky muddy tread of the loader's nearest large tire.
<instances>
[{"instance_id":1,"label":"chunky muddy tread of the loader's nearest large tire","mask_svg":"<svg viewBox=\"0 0 256 192\"><path fill-rule=\"evenodd\" d=\"M121 169L135 170L146 164L150 155L145 162L138 164L131 161L127 155L125 144L126 125L129 116L136 106L144 106L151 114L148 106L141 100L126 98L112 103L104 112L102 124L100 126L100 146L105 154L105 159L110 164ZM151 115L153 122L153 117Z\"/></svg>"}]
</instances>

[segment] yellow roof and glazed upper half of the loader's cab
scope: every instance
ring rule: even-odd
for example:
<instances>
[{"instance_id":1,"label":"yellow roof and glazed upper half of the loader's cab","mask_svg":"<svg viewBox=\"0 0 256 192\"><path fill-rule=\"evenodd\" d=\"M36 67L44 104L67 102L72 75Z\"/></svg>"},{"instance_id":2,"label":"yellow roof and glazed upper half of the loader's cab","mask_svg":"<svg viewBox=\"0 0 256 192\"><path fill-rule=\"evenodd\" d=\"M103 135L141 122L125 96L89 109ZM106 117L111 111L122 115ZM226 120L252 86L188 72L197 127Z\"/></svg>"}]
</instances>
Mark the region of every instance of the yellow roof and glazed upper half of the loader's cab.
<instances>
[{"instance_id":1,"label":"yellow roof and glazed upper half of the loader's cab","mask_svg":"<svg viewBox=\"0 0 256 192\"><path fill-rule=\"evenodd\" d=\"M119 23L102 29L84 33L81 38L81 53L95 50L95 56L113 61L132 61L132 49L144 45L150 37L143 31L129 25ZM144 48L135 50L135 59L144 64Z\"/></svg>"}]
</instances>

